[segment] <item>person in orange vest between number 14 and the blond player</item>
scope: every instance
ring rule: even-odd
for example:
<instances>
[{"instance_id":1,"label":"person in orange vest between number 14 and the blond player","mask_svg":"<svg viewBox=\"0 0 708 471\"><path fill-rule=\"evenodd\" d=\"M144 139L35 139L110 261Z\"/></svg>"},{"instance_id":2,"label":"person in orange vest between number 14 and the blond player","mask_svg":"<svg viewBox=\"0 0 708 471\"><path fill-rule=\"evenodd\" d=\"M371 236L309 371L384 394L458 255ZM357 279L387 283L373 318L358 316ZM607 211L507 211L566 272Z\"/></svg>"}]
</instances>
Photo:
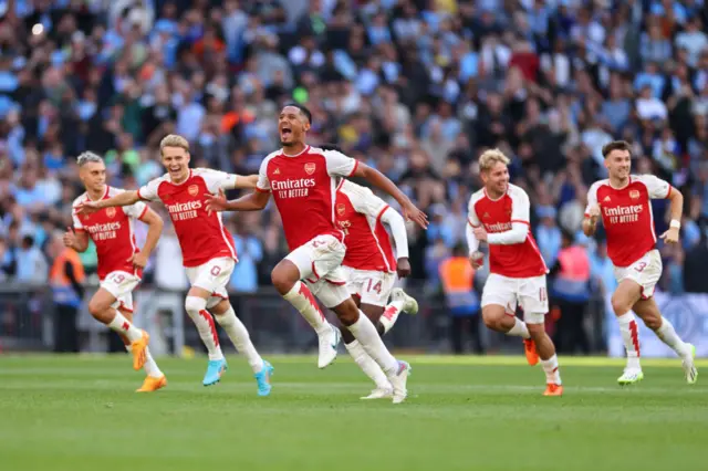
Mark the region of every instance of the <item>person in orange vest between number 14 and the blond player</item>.
<instances>
[{"instance_id":1,"label":"person in orange vest between number 14 and the blond player","mask_svg":"<svg viewBox=\"0 0 708 471\"><path fill-rule=\"evenodd\" d=\"M452 350L456 355L462 353L462 332L466 321L469 321L472 348L475 353L483 354L485 347L482 346L479 328L479 296L473 289L475 269L469 263L465 245L456 245L452 249L451 257L440 262L438 272L445 302L452 317L450 325Z\"/></svg>"}]
</instances>

